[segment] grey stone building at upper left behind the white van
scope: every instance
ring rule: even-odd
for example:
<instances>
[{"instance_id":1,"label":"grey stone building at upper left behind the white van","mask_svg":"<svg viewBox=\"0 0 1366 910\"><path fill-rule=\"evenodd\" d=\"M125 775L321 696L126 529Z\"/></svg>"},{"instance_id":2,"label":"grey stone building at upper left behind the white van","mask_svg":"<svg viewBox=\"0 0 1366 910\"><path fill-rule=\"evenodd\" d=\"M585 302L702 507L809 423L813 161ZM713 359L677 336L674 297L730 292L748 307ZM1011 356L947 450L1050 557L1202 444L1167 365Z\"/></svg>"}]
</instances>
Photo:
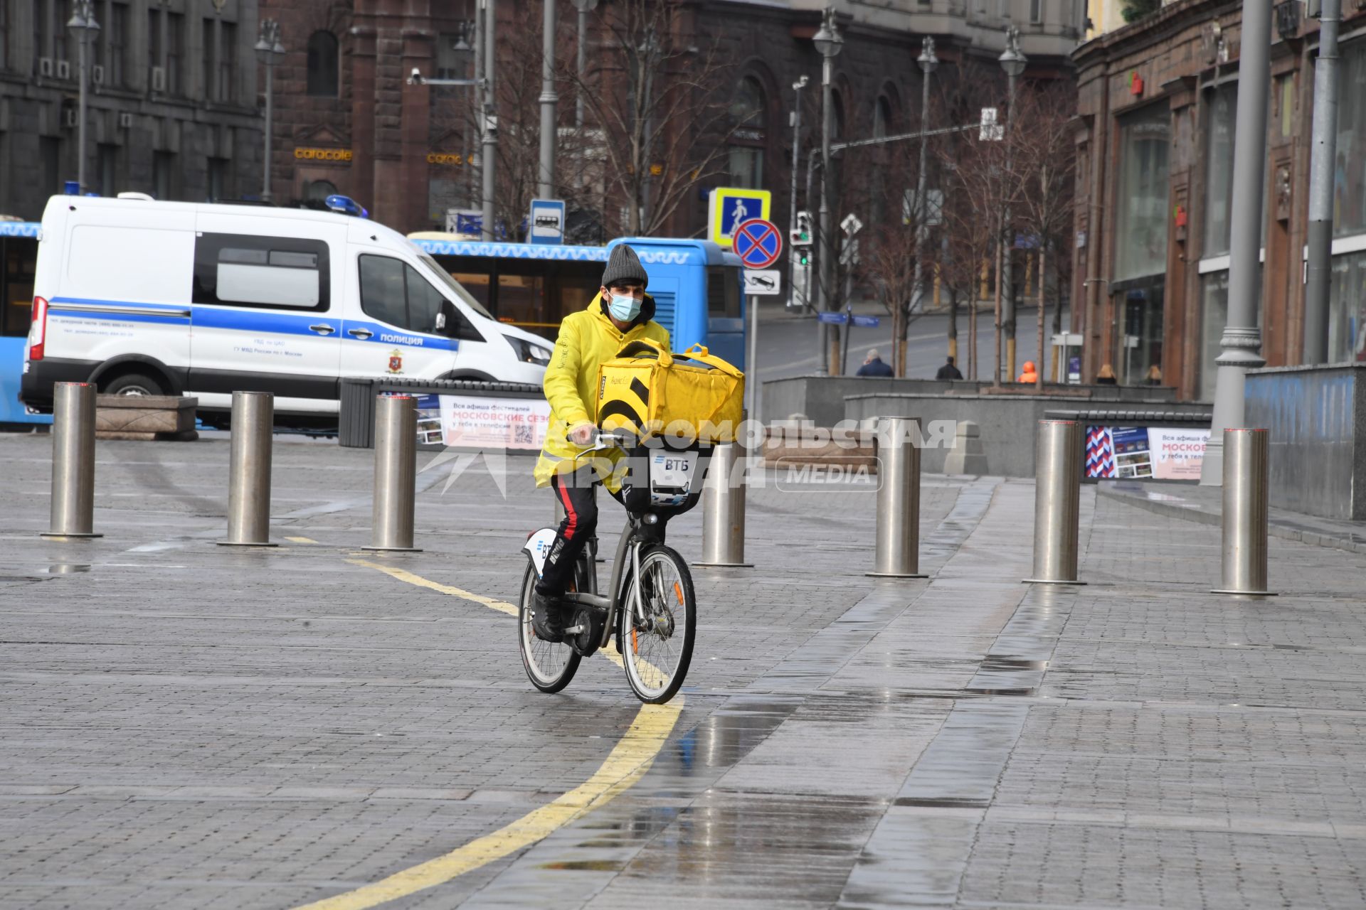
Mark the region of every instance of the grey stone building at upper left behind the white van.
<instances>
[{"instance_id":1,"label":"grey stone building at upper left behind the white van","mask_svg":"<svg viewBox=\"0 0 1366 910\"><path fill-rule=\"evenodd\" d=\"M0 213L38 218L75 180L68 0L0 0ZM255 0L94 0L86 187L206 201L257 194Z\"/></svg>"}]
</instances>

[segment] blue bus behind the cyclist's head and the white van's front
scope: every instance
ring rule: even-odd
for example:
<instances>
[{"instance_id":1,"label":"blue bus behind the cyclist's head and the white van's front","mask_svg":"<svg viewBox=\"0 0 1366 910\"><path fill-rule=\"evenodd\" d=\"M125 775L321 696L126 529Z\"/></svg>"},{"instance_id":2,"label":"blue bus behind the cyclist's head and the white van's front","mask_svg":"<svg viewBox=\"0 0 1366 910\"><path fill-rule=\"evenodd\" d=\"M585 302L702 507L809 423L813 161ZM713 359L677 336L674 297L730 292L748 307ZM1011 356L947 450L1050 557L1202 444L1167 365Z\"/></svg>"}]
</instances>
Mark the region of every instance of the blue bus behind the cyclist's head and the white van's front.
<instances>
[{"instance_id":1,"label":"blue bus behind the cyclist's head and the white van's front","mask_svg":"<svg viewBox=\"0 0 1366 910\"><path fill-rule=\"evenodd\" d=\"M654 319L675 351L694 344L744 368L746 297L740 258L709 240L620 237L605 247L484 243L413 233L501 322L555 338L560 321L597 293L612 248L630 244L650 273Z\"/></svg>"}]
</instances>

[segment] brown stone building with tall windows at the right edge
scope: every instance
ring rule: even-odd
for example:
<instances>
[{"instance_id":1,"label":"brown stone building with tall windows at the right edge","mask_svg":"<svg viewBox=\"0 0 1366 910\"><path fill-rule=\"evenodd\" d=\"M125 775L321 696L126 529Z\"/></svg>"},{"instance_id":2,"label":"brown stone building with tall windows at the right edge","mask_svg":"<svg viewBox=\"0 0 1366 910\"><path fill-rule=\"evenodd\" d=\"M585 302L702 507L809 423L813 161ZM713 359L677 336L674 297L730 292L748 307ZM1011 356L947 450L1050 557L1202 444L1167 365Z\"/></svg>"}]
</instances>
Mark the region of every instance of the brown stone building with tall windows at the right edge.
<instances>
[{"instance_id":1,"label":"brown stone building with tall windows at the right edge","mask_svg":"<svg viewBox=\"0 0 1366 910\"><path fill-rule=\"evenodd\" d=\"M1366 359L1366 11L1344 3L1330 357ZM1274 5L1261 281L1262 355L1300 362L1317 22ZM1240 4L1176 0L1082 45L1072 329L1083 377L1152 367L1210 400L1228 312Z\"/></svg>"}]
</instances>

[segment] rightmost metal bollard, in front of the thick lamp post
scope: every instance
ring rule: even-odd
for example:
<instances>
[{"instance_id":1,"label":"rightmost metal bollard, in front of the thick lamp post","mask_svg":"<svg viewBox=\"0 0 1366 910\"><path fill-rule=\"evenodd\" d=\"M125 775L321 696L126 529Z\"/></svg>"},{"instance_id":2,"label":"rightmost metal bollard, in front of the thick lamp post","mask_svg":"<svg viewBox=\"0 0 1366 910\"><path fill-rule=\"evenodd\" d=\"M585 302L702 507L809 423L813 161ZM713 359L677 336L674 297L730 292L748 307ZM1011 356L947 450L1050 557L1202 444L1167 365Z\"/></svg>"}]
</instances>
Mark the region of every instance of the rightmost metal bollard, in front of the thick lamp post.
<instances>
[{"instance_id":1,"label":"rightmost metal bollard, in front of the thick lamp post","mask_svg":"<svg viewBox=\"0 0 1366 910\"><path fill-rule=\"evenodd\" d=\"M1268 452L1266 430L1224 430L1224 558L1213 593L1266 589Z\"/></svg>"}]
</instances>

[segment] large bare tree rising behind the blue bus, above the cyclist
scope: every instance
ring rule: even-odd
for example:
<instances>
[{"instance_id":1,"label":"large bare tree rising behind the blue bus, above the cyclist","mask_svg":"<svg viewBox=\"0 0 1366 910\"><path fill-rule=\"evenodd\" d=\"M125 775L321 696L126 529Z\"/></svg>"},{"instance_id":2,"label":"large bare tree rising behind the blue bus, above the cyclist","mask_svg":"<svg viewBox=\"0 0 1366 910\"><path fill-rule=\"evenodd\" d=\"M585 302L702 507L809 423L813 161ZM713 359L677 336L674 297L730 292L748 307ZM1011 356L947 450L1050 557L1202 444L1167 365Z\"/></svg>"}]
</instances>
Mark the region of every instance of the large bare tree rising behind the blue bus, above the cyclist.
<instances>
[{"instance_id":1,"label":"large bare tree rising behind the blue bus, above the cyclist","mask_svg":"<svg viewBox=\"0 0 1366 910\"><path fill-rule=\"evenodd\" d=\"M587 72L564 79L596 124L589 145L604 164L604 198L624 203L620 226L657 233L698 184L727 171L731 64L717 41L688 33L682 0L605 4L596 25L604 40Z\"/></svg>"}]
</instances>

